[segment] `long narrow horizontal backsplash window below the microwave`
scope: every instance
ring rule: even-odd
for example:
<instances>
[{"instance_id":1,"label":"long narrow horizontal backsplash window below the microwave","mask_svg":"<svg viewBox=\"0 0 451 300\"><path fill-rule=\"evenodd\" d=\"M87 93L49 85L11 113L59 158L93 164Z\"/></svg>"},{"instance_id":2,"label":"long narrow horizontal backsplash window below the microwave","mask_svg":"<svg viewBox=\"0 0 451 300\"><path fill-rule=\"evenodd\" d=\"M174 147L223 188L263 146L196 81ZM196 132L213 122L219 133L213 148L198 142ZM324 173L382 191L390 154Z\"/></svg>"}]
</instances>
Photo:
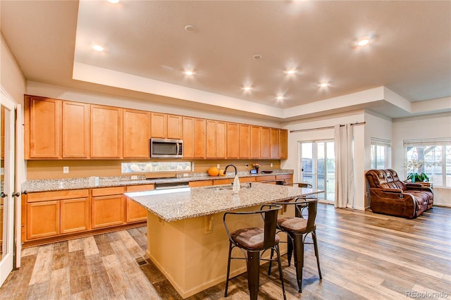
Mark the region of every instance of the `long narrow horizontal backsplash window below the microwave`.
<instances>
[{"instance_id":1,"label":"long narrow horizontal backsplash window below the microwave","mask_svg":"<svg viewBox=\"0 0 451 300\"><path fill-rule=\"evenodd\" d=\"M194 169L191 161L178 162L147 162L147 163L121 163L122 173L160 173L160 172L189 172Z\"/></svg>"}]
</instances>

